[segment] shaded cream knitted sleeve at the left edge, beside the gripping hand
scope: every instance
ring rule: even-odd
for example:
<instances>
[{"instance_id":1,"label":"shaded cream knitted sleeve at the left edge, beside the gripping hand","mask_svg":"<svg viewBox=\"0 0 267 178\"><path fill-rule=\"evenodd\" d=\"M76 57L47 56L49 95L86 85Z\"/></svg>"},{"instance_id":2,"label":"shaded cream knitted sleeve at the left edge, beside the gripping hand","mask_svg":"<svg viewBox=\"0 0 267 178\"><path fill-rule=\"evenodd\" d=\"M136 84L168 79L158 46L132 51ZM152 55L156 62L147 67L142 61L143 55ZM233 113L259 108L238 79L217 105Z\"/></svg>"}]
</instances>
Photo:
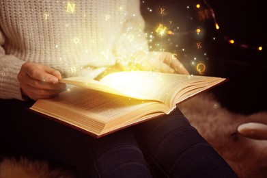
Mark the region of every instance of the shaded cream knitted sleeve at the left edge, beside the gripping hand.
<instances>
[{"instance_id":1,"label":"shaded cream knitted sleeve at the left edge, beside the gripping hand","mask_svg":"<svg viewBox=\"0 0 267 178\"><path fill-rule=\"evenodd\" d=\"M17 75L25 62L14 55L6 55L4 42L4 34L0 29L0 98L23 100Z\"/></svg>"}]
</instances>

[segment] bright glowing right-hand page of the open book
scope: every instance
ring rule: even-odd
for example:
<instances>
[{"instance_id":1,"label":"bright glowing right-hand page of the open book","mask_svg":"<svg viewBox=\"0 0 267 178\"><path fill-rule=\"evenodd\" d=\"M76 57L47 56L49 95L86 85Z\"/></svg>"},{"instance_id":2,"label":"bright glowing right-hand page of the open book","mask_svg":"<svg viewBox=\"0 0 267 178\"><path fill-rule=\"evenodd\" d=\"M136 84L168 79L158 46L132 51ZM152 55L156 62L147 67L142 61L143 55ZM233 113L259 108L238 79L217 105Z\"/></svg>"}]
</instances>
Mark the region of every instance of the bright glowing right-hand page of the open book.
<instances>
[{"instance_id":1,"label":"bright glowing right-hand page of the open book","mask_svg":"<svg viewBox=\"0 0 267 178\"><path fill-rule=\"evenodd\" d=\"M154 99L169 105L169 107L175 107L173 101L180 101L177 99L178 93L186 95L184 88L195 88L194 92L197 93L219 84L223 80L225 79L220 77L132 71L112 73L100 81L116 90L121 90L126 96L136 98L143 96L143 99ZM191 95L192 93L189 93L188 97Z\"/></svg>"}]
</instances>

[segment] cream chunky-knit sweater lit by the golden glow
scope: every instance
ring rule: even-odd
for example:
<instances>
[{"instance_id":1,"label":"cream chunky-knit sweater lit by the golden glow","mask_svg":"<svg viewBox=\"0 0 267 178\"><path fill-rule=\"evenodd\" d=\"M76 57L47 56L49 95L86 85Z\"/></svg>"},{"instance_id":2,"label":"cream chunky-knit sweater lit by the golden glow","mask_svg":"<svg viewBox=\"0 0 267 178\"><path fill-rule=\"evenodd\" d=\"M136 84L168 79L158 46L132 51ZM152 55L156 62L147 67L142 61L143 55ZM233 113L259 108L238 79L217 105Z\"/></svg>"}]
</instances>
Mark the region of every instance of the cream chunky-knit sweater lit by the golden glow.
<instances>
[{"instance_id":1,"label":"cream chunky-knit sweater lit by the golden glow","mask_svg":"<svg viewBox=\"0 0 267 178\"><path fill-rule=\"evenodd\" d=\"M0 0L0 98L22 99L17 75L28 61L70 77L146 52L139 5L139 0Z\"/></svg>"}]
</instances>

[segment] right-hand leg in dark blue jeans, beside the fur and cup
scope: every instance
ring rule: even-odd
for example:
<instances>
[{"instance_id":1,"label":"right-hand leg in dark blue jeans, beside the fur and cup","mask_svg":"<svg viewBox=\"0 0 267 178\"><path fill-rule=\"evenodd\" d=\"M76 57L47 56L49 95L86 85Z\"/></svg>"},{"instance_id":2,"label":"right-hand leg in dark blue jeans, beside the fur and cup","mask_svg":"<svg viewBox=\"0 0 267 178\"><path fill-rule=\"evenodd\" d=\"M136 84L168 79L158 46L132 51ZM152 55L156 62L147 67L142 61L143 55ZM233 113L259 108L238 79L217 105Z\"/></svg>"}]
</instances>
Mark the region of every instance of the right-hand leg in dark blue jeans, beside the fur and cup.
<instances>
[{"instance_id":1,"label":"right-hand leg in dark blue jeans, beside the fur and cup","mask_svg":"<svg viewBox=\"0 0 267 178\"><path fill-rule=\"evenodd\" d=\"M134 127L147 162L160 177L236 177L180 110Z\"/></svg>"}]
</instances>

